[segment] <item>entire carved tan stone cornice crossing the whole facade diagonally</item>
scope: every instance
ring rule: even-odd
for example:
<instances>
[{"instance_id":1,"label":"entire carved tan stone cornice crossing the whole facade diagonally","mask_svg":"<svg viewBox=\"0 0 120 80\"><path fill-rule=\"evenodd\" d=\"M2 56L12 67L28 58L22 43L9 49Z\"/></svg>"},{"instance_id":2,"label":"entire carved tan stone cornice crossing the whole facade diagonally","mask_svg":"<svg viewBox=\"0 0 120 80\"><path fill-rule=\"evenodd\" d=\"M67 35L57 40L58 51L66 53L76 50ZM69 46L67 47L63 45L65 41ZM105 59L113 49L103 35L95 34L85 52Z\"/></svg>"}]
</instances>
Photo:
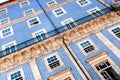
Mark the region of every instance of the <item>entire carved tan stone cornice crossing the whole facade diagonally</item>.
<instances>
[{"instance_id":1,"label":"entire carved tan stone cornice crossing the whole facade diagonally","mask_svg":"<svg viewBox=\"0 0 120 80\"><path fill-rule=\"evenodd\" d=\"M67 45L69 45L78 39L100 32L102 29L117 22L120 22L120 16L118 16L116 12L111 12L82 25L76 26L59 35L2 57L0 58L0 73L27 63L31 59L41 57L48 52L64 47L63 38Z\"/></svg>"}]
</instances>

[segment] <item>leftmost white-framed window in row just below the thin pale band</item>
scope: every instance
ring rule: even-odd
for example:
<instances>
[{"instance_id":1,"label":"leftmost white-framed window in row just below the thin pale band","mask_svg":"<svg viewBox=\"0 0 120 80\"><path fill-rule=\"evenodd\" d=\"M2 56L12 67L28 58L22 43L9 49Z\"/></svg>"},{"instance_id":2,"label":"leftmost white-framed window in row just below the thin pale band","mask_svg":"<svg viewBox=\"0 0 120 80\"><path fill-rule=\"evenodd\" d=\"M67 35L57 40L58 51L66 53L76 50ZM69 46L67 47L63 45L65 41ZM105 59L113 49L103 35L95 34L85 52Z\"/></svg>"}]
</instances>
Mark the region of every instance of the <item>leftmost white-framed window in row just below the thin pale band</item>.
<instances>
[{"instance_id":1,"label":"leftmost white-framed window in row just below the thin pale band","mask_svg":"<svg viewBox=\"0 0 120 80\"><path fill-rule=\"evenodd\" d=\"M12 27L7 27L7 28L0 30L0 35L1 35L1 38L5 38L5 37L13 35Z\"/></svg>"}]
</instances>

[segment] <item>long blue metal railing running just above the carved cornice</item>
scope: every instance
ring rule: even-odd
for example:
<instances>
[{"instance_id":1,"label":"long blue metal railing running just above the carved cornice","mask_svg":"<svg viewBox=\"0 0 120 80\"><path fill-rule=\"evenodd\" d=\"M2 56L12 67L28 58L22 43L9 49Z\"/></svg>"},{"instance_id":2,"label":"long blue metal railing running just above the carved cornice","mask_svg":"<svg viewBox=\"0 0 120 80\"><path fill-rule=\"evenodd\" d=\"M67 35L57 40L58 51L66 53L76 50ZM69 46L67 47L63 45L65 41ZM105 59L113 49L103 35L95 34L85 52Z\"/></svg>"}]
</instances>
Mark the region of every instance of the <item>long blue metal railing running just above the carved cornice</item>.
<instances>
[{"instance_id":1,"label":"long blue metal railing running just above the carved cornice","mask_svg":"<svg viewBox=\"0 0 120 80\"><path fill-rule=\"evenodd\" d=\"M104 15L104 14L107 14L107 13L113 11L113 9L110 7L110 8L105 8L105 9L103 9L103 10L101 10L101 11L102 11L102 13L103 13L103 15ZM102 15L100 15L100 16L102 16ZM97 16L97 17L99 17L99 16ZM88 16L85 16L85 17L83 17L83 18L81 18L81 19L78 19L78 20L74 21L74 22L73 22L73 24L74 24L73 27L67 28L66 26L61 26L61 27L59 27L59 28L57 28L57 29L55 29L55 30L53 30L53 31L50 31L50 32L45 33L45 35L48 36L48 37L46 37L46 39L49 38L49 37L55 36L55 35L57 35L57 34L60 34L60 33L62 33L62 32L65 32L66 30L69 30L69 29L71 29L71 28L74 28L74 27L76 27L76 26L78 26L78 25L81 25L81 24L83 24L83 23L85 23L85 22L88 22L88 21L90 21L90 20L92 20L92 19L95 19L95 18L96 18L96 17L93 17L92 15L88 15ZM56 32L56 31L57 31L57 32ZM42 41L42 40L41 40L41 41ZM14 53L14 52L16 52L16 51L19 51L19 50L21 50L21 49L23 49L23 48L26 48L26 47L28 47L28 46L31 46L31 45L33 45L33 44L36 44L36 43L38 43L38 42L40 42L40 41L36 41L36 38L32 38L32 39L30 39L30 40L27 40L27 41L25 41L25 42L22 42L22 43L20 43L20 44L18 44L18 45L16 45L16 46L14 46L14 47L15 47L15 50L10 51L9 54ZM6 54L6 50L0 51L0 58L1 58L1 57L4 57L4 56L6 56L6 55L9 55L9 54Z\"/></svg>"}]
</instances>

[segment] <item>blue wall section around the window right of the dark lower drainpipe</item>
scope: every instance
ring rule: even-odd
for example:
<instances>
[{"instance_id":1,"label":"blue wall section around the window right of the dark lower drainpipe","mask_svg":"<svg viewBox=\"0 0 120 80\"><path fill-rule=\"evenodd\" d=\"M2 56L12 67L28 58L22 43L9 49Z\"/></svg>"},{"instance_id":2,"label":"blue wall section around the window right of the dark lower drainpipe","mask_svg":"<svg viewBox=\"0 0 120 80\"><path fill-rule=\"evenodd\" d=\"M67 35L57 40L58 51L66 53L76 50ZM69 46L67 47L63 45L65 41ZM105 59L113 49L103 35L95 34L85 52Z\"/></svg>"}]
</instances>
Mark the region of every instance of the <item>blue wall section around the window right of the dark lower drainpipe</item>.
<instances>
[{"instance_id":1,"label":"blue wall section around the window right of the dark lower drainpipe","mask_svg":"<svg viewBox=\"0 0 120 80\"><path fill-rule=\"evenodd\" d=\"M83 52L81 51L81 49L78 47L78 42L80 42L81 40L85 40L85 39L91 39L99 48L97 51L89 54L89 55L84 55ZM78 59L80 60L80 62L82 63L82 65L85 67L85 69L88 71L88 73L90 74L90 76L93 79L100 79L100 77L95 73L95 71L93 70L93 68L91 67L91 65L89 63L86 62L87 59L98 55L104 51L107 51L108 56L118 65L120 66L120 61L118 59L118 57L115 56L115 54L102 42L99 40L99 38L95 35L92 34L84 39L78 40L76 42L73 42L70 44L70 48L73 50L73 52L75 53L75 55L78 57ZM86 53L87 54L87 53Z\"/></svg>"}]
</instances>

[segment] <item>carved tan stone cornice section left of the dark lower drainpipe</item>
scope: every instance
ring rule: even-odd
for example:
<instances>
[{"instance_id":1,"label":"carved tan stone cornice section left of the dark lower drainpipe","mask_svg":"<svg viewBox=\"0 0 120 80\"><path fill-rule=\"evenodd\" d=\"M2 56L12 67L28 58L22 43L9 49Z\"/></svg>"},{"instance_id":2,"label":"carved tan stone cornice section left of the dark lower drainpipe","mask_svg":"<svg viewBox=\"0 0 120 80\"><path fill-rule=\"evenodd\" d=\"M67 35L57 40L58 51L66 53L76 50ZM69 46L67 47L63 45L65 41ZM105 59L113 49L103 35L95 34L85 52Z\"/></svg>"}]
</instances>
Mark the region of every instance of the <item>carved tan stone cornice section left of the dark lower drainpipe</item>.
<instances>
[{"instance_id":1,"label":"carved tan stone cornice section left of the dark lower drainpipe","mask_svg":"<svg viewBox=\"0 0 120 80\"><path fill-rule=\"evenodd\" d=\"M13 54L0 58L0 73L3 73L13 67L29 62L31 59L41 57L42 55L63 47L62 38L54 36L38 44L24 48Z\"/></svg>"}]
</instances>

